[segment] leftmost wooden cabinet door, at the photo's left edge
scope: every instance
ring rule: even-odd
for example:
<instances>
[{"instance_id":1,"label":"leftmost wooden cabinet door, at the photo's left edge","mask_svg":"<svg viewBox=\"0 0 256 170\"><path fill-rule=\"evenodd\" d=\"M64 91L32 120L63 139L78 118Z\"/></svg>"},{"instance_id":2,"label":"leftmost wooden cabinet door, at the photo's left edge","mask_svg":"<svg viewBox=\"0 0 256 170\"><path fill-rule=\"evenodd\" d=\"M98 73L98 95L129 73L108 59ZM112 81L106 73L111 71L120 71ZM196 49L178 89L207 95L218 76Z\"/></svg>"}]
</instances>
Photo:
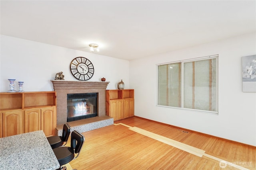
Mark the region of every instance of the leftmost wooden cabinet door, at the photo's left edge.
<instances>
[{"instance_id":1,"label":"leftmost wooden cabinet door, at the photo's left edge","mask_svg":"<svg viewBox=\"0 0 256 170\"><path fill-rule=\"evenodd\" d=\"M2 113L3 137L22 133L22 111L7 111Z\"/></svg>"}]
</instances>

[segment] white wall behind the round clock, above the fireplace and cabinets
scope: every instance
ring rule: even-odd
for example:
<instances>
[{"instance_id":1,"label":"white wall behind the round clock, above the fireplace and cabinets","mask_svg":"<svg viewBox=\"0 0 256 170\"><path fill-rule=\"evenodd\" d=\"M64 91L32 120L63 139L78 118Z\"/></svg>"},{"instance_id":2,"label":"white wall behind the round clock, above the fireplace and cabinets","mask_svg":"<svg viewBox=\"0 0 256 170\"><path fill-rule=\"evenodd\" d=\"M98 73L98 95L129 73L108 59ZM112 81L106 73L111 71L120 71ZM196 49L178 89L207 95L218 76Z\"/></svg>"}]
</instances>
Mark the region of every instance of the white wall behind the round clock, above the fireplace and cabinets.
<instances>
[{"instance_id":1,"label":"white wall behind the round clock, above the fireplace and cabinets","mask_svg":"<svg viewBox=\"0 0 256 170\"><path fill-rule=\"evenodd\" d=\"M76 57L89 59L94 66L94 75L88 81L100 81L102 77L110 82L107 89L117 89L121 79L129 88L129 61L28 41L1 35L0 92L10 90L8 79L24 81L23 90L53 91L55 74L62 71L65 80L77 80L70 72L70 62ZM124 71L122 71L124 70Z\"/></svg>"}]
</instances>

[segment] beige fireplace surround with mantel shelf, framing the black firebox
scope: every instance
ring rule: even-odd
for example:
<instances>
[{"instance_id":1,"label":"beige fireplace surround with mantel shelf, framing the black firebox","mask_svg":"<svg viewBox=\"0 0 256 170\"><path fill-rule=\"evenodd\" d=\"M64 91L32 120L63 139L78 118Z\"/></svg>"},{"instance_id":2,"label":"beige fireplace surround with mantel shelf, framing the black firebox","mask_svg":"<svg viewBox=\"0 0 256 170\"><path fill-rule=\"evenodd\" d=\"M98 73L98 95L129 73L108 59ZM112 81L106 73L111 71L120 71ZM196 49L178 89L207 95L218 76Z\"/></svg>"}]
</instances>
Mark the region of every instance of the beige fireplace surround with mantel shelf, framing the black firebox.
<instances>
[{"instance_id":1,"label":"beige fireplace surround with mantel shelf, framing the black firebox","mask_svg":"<svg viewBox=\"0 0 256 170\"><path fill-rule=\"evenodd\" d=\"M51 80L57 100L57 125L67 122L67 94L98 93L98 116L106 115L106 88L109 82Z\"/></svg>"}]
</instances>

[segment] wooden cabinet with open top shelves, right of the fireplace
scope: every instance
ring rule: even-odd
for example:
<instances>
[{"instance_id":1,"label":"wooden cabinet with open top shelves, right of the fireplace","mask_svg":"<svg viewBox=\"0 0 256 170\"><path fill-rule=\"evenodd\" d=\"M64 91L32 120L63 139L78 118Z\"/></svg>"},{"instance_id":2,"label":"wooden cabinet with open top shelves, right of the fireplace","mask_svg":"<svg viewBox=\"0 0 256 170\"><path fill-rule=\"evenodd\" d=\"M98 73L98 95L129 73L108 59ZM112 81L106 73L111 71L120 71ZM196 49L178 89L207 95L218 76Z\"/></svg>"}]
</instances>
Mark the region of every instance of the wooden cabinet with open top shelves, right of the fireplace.
<instances>
[{"instance_id":1,"label":"wooden cabinet with open top shelves, right of the fireplace","mask_svg":"<svg viewBox=\"0 0 256 170\"><path fill-rule=\"evenodd\" d=\"M134 116L134 90L106 90L106 115L114 121Z\"/></svg>"}]
</instances>

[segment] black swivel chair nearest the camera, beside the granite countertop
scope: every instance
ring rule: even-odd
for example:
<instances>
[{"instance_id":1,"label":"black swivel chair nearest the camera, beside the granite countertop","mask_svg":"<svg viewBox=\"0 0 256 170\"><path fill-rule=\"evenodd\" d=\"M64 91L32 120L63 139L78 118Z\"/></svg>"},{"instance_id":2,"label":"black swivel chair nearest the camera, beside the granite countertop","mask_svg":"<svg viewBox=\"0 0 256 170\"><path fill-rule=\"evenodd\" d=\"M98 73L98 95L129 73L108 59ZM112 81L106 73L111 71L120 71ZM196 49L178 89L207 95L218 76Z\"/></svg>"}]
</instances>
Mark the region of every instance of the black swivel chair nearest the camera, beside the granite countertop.
<instances>
[{"instance_id":1,"label":"black swivel chair nearest the camera, beside the granite countertop","mask_svg":"<svg viewBox=\"0 0 256 170\"><path fill-rule=\"evenodd\" d=\"M60 169L66 169L66 167L62 167L62 165L67 164L73 159L76 159L80 154L80 151L84 145L84 135L74 130L71 133L71 147L58 147L53 149L53 152L60 163ZM76 157L75 157L76 154Z\"/></svg>"}]
</instances>

